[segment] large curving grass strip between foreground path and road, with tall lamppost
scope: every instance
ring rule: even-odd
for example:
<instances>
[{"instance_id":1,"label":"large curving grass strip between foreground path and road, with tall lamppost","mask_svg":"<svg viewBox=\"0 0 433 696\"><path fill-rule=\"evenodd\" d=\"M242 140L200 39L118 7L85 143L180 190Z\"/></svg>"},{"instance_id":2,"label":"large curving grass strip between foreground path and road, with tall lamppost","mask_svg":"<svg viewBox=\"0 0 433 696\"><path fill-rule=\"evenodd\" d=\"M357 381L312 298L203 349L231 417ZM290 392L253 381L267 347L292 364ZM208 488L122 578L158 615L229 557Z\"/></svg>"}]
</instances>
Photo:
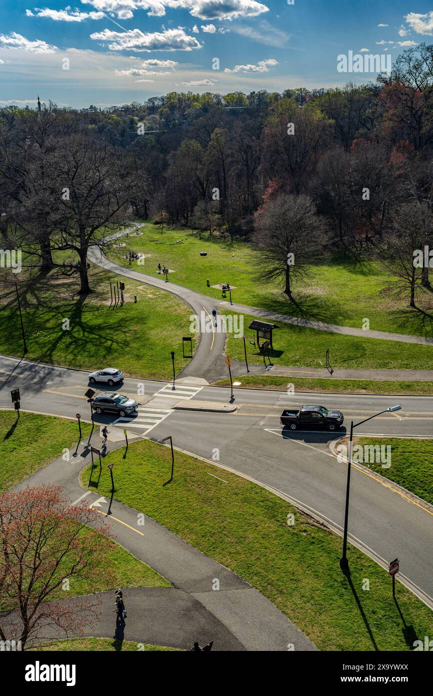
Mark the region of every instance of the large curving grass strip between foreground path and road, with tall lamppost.
<instances>
[{"instance_id":1,"label":"large curving grass strip between foreground path and road, with tall lamppost","mask_svg":"<svg viewBox=\"0 0 433 696\"><path fill-rule=\"evenodd\" d=\"M174 480L164 486L170 450L150 441L130 445L126 459L122 452L108 459L115 464L117 500L245 578L320 649L407 650L418 636L432 635L430 609L400 585L397 607L389 575L352 546L352 574L343 576L341 538L269 491L181 452L175 453ZM108 495L107 467L99 485L90 470L83 470L81 483ZM363 578L370 581L368 591Z\"/></svg>"}]
</instances>

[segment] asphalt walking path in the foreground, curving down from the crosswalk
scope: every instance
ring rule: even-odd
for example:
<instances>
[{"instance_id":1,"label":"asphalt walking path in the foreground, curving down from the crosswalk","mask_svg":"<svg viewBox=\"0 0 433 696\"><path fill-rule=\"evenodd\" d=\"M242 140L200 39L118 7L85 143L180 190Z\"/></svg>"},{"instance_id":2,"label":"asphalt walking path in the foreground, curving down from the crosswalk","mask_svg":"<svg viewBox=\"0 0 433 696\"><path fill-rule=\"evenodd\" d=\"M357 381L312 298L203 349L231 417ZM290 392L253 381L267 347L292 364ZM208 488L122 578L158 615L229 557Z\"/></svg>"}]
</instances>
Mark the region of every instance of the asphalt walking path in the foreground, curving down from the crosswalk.
<instances>
[{"instance_id":1,"label":"asphalt walking path in the foreground, curving down from the crosswalk","mask_svg":"<svg viewBox=\"0 0 433 696\"><path fill-rule=\"evenodd\" d=\"M101 447L97 428L91 443ZM108 442L106 452L116 448L118 443ZM86 438L71 452L70 461L59 457L13 490L44 483L60 486L72 503L84 502L97 509L121 546L172 583L171 588L124 589L128 612L124 640L181 649L189 649L195 640L200 644L214 640L215 650L280 651L288 645L295 650L316 650L274 604L232 571L138 510L81 488L77 477L90 461ZM106 466L104 459L102 466ZM98 470L95 456L94 478ZM219 590L215 590L217 585ZM114 593L98 594L102 602L99 619L86 635L111 638L116 636ZM8 621L15 624L17 617L12 614ZM51 637L56 635L54 630ZM119 634L116 637L121 639Z\"/></svg>"}]
</instances>

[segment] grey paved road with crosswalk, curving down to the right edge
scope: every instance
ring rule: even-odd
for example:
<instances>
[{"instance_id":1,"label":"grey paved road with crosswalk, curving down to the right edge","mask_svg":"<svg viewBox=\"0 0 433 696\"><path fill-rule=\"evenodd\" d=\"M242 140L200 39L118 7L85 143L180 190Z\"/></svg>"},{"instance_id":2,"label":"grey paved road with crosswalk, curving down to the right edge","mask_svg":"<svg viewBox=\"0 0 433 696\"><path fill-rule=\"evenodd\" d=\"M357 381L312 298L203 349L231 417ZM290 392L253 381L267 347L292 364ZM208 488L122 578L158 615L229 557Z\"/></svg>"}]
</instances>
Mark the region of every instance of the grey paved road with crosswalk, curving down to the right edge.
<instances>
[{"instance_id":1,"label":"grey paved road with crosswalk, curving down to the right edge","mask_svg":"<svg viewBox=\"0 0 433 696\"><path fill-rule=\"evenodd\" d=\"M85 418L88 404L83 393L88 385L87 373L15 358L0 358L0 370L4 371L0 372L4 380L0 381L0 407L10 407L10 389L19 386L23 409L66 417L74 417L79 409ZM122 391L137 394L137 383L126 379ZM347 469L329 451L335 436L318 432L286 434L279 424L283 406L322 402L341 409L348 425L352 418L358 422L398 402L402 411L370 420L359 429L359 434L433 435L431 397L325 397L311 393L293 397L276 391L235 389L235 413L191 413L173 408L178 397L190 402L228 402L229 390L195 385L193 379L178 384L171 395L170 390L166 383L145 381L149 400L140 407L140 415L122 423L122 427L126 425L130 432L147 436L172 434L178 448L206 459L211 459L213 450L218 448L222 465L275 488L336 530L343 525ZM97 420L110 422L113 418L101 416ZM352 541L379 562L398 556L407 583L433 598L431 509L403 496L391 482L384 485L357 466L352 472L350 503Z\"/></svg>"}]
</instances>

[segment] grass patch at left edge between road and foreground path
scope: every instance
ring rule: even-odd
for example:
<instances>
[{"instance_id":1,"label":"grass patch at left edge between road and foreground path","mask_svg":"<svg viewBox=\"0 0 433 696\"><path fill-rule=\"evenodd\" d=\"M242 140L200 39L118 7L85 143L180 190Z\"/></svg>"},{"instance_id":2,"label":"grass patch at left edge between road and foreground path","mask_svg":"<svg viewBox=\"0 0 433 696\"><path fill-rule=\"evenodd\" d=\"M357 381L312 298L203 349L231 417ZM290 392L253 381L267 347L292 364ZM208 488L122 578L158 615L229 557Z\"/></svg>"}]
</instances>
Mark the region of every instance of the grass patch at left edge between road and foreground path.
<instances>
[{"instance_id":1,"label":"grass patch at left edge between road and foreground path","mask_svg":"<svg viewBox=\"0 0 433 696\"><path fill-rule=\"evenodd\" d=\"M81 423L83 438L90 425ZM21 411L0 411L0 493L54 461L79 441L76 422Z\"/></svg>"}]
</instances>

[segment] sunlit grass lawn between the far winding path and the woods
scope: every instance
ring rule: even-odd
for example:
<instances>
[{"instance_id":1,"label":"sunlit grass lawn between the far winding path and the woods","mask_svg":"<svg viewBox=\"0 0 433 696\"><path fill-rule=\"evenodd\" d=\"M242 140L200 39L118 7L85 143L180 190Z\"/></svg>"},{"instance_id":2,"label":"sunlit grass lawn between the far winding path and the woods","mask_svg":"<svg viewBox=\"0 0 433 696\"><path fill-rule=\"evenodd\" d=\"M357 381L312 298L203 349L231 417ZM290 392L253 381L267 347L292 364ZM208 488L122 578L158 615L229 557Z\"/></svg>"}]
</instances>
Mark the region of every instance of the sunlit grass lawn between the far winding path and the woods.
<instances>
[{"instance_id":1,"label":"sunlit grass lawn between the far winding path and the woods","mask_svg":"<svg viewBox=\"0 0 433 696\"><path fill-rule=\"evenodd\" d=\"M313 260L309 276L294 286L295 305L282 294L280 286L263 285L257 280L261 257L247 242L210 237L207 232L202 233L200 240L197 232L184 228L166 228L161 232L149 222L143 223L140 230L140 236L120 239L126 247L114 248L110 254L113 260L127 265L128 261L122 258L126 251L147 254L142 264L134 261L132 268L157 276L160 262L175 271L169 276L173 283L215 299L221 298L221 290L208 288L206 280L211 286L230 283L236 288L232 292L234 302L256 308L359 329L368 319L372 330L433 335L433 294L420 290L417 303L424 313L411 310L407 295L395 296L391 292L393 280L378 260ZM200 251L206 251L207 256L200 256Z\"/></svg>"}]
</instances>

